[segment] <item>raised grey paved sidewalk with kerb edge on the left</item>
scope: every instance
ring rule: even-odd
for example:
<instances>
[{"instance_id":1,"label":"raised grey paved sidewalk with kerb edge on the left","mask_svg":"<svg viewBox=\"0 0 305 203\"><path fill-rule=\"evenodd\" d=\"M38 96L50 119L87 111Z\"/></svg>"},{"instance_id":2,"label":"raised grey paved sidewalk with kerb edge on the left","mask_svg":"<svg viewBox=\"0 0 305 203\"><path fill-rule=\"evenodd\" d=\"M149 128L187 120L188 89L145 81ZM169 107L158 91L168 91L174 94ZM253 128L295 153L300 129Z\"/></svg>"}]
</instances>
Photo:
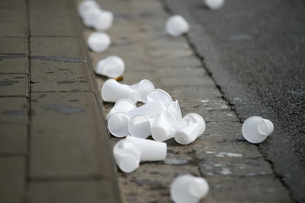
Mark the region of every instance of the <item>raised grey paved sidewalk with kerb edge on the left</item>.
<instances>
[{"instance_id":1,"label":"raised grey paved sidewalk with kerb edge on the left","mask_svg":"<svg viewBox=\"0 0 305 203\"><path fill-rule=\"evenodd\" d=\"M120 202L70 0L0 2L0 202Z\"/></svg>"}]
</instances>

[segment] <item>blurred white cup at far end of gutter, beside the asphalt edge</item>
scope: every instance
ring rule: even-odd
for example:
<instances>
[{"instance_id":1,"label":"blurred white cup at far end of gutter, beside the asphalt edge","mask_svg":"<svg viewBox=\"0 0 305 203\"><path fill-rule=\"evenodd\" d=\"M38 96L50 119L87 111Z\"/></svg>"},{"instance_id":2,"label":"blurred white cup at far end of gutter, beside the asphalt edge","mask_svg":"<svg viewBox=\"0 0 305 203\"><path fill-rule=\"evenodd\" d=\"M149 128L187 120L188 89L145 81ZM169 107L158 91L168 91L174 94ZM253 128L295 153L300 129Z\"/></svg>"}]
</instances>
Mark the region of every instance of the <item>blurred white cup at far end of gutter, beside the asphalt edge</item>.
<instances>
[{"instance_id":1,"label":"blurred white cup at far end of gutter, beside the asphalt edge","mask_svg":"<svg viewBox=\"0 0 305 203\"><path fill-rule=\"evenodd\" d=\"M190 30L190 24L184 17L174 15L166 21L165 30L171 37L179 37Z\"/></svg>"}]
</instances>

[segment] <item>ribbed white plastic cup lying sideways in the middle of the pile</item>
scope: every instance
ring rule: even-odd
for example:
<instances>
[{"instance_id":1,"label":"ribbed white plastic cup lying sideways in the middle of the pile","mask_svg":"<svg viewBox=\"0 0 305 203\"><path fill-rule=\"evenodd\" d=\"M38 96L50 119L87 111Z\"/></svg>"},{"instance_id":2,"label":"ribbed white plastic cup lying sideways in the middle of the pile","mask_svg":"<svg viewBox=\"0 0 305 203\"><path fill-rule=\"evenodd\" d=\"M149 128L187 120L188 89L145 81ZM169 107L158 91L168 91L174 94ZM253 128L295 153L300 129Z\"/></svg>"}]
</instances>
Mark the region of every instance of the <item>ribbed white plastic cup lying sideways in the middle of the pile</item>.
<instances>
[{"instance_id":1,"label":"ribbed white plastic cup lying sideways in the middle of the pile","mask_svg":"<svg viewBox=\"0 0 305 203\"><path fill-rule=\"evenodd\" d=\"M138 115L147 116L153 118L159 116L161 112L165 111L165 106L162 100L157 99L151 103L145 104L136 109L130 110L127 113L133 118Z\"/></svg>"}]
</instances>

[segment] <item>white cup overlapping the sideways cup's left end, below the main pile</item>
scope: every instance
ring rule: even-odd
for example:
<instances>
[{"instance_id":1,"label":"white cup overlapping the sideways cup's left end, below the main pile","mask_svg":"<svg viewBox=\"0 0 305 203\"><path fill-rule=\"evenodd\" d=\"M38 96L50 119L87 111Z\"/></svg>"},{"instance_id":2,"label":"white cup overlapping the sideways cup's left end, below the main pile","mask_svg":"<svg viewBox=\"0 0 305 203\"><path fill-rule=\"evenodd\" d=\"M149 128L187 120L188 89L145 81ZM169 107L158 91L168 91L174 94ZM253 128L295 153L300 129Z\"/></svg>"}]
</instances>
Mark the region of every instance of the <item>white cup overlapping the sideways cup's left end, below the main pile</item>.
<instances>
[{"instance_id":1,"label":"white cup overlapping the sideways cup's left end, below the main pile","mask_svg":"<svg viewBox=\"0 0 305 203\"><path fill-rule=\"evenodd\" d=\"M124 173L132 173L137 170L141 153L141 149L128 140L120 140L113 148L115 162Z\"/></svg>"}]
</instances>

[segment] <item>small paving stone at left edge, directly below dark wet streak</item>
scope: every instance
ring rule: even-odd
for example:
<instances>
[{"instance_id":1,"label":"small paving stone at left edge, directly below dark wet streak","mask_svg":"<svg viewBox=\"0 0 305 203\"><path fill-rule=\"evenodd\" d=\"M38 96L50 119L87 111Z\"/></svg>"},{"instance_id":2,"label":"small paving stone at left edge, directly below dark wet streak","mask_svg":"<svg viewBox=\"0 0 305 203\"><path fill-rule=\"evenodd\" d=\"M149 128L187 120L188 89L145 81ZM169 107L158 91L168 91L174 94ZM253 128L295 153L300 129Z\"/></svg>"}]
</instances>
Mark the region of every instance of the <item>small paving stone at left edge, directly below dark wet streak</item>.
<instances>
[{"instance_id":1,"label":"small paving stone at left edge, directly below dark wet streak","mask_svg":"<svg viewBox=\"0 0 305 203\"><path fill-rule=\"evenodd\" d=\"M0 38L1 39L1 38ZM1 43L1 42L0 42ZM11 58L13 57L13 58ZM16 57L16 58L15 58ZM0 55L0 74L28 74L28 59L24 55Z\"/></svg>"}]
</instances>

